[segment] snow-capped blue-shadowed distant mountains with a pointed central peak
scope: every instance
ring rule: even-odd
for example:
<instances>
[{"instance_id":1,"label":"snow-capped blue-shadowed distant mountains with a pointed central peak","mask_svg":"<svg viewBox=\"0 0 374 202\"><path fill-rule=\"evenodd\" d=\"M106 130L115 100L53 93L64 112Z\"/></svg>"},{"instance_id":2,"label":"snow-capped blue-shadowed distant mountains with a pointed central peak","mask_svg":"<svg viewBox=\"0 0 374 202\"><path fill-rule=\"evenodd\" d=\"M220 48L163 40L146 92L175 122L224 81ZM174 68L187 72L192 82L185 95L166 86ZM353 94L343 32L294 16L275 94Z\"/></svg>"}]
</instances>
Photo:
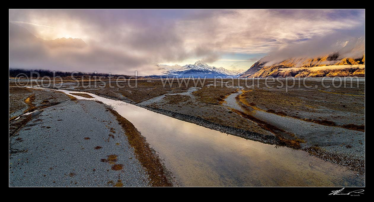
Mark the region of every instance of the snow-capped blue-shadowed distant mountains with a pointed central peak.
<instances>
[{"instance_id":1,"label":"snow-capped blue-shadowed distant mountains with a pointed central peak","mask_svg":"<svg viewBox=\"0 0 374 202\"><path fill-rule=\"evenodd\" d=\"M160 75L152 75L149 77L177 77L177 78L188 78L190 76L193 77L206 77L206 78L214 78L214 77L239 77L245 70L227 70L223 67L213 67L205 62L199 60L196 61L195 64L188 64L184 66L180 65L161 65L157 64L160 71L163 71Z\"/></svg>"}]
</instances>

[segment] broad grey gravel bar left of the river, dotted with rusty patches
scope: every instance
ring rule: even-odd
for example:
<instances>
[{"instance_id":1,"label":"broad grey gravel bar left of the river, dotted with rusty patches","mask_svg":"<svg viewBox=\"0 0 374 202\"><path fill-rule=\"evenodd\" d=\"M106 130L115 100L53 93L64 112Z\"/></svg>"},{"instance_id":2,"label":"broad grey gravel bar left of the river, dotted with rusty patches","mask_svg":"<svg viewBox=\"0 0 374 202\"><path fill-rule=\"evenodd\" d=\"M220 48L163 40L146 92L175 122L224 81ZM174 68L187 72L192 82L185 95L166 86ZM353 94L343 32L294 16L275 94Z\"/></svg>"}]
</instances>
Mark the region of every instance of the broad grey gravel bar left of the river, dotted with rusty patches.
<instances>
[{"instance_id":1,"label":"broad grey gravel bar left of the river, dotted with rusty patches","mask_svg":"<svg viewBox=\"0 0 374 202\"><path fill-rule=\"evenodd\" d=\"M95 101L45 108L9 144L9 186L149 186L116 118Z\"/></svg>"}]
</instances>

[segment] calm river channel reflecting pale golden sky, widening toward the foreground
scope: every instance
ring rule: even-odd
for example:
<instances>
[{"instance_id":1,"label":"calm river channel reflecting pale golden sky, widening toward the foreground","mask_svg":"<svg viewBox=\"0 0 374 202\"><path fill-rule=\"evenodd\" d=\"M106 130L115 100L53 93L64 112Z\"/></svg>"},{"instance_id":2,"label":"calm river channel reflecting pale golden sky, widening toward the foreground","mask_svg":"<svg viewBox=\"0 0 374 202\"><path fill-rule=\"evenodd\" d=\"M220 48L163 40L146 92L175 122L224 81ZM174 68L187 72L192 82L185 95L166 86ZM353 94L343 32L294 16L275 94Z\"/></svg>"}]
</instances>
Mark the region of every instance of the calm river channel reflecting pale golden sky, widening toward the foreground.
<instances>
[{"instance_id":1,"label":"calm river channel reflecting pale golden sky, widening toward the foreground","mask_svg":"<svg viewBox=\"0 0 374 202\"><path fill-rule=\"evenodd\" d=\"M67 94L72 91L58 90ZM74 92L72 92L74 93ZM75 92L76 93L76 92ZM81 93L81 92L80 92ZM178 186L363 186L363 177L302 150L246 140L87 93L146 137ZM71 94L70 94L71 95Z\"/></svg>"}]
</instances>

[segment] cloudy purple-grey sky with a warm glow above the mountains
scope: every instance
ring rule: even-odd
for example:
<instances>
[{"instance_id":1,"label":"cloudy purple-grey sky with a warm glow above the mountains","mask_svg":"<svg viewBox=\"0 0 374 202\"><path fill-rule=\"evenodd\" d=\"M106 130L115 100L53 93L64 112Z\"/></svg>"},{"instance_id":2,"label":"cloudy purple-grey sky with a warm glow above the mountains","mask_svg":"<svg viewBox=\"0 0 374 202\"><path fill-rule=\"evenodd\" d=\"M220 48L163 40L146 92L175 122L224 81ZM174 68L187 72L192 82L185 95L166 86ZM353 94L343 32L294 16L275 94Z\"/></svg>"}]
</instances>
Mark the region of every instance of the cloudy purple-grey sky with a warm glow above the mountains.
<instances>
[{"instance_id":1,"label":"cloudy purple-grey sky with a warm glow above the mountains","mask_svg":"<svg viewBox=\"0 0 374 202\"><path fill-rule=\"evenodd\" d=\"M364 36L365 10L9 10L9 22L44 40L79 38L90 47L30 59L33 48L10 43L10 67L145 75L154 63L199 59L246 70L279 49L302 54L306 44L308 54L326 54L327 43Z\"/></svg>"}]
</instances>

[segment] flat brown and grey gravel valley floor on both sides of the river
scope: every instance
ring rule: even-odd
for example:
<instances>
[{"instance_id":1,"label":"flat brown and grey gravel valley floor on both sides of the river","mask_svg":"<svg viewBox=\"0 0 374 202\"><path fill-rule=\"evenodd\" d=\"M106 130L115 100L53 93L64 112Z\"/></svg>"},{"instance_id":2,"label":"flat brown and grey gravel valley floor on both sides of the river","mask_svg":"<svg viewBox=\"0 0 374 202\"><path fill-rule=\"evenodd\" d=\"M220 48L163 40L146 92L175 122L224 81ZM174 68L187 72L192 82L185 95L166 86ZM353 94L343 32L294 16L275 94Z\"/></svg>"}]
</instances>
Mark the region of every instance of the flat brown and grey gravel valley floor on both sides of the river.
<instances>
[{"instance_id":1,"label":"flat brown and grey gravel valley floor on both sides of the river","mask_svg":"<svg viewBox=\"0 0 374 202\"><path fill-rule=\"evenodd\" d=\"M360 85L355 88L325 89L320 86L318 79L310 79L307 80L307 85L312 88L300 87L287 90L284 87L277 88L276 84L266 86L263 79L260 79L259 85L255 87L246 86L243 82L243 80L235 80L227 88L219 86L220 83L214 84L213 80L207 80L205 84L200 86L195 86L193 82L190 82L187 86L181 87L174 81L171 85L164 87L160 80L149 79L138 80L137 88L130 88L126 85L121 88L110 88L108 85L85 87L87 85L84 84L77 87L74 86L75 83L66 81L62 85L62 89L91 92L101 97L129 102L157 113L227 134L277 146L302 149L321 159L347 166L358 175L364 175L365 80L360 80ZM331 83L331 81L328 82ZM101 104L94 101L72 101L66 95L60 95L62 94L60 92L49 94L52 92L13 87L10 84L11 186L30 186L36 182L41 186L54 186L55 183L55 186L74 186L75 182L77 182L76 186L113 186L119 180L124 186L148 185L147 176L139 162L136 158L130 159L134 155L134 151L126 149L131 148L128 147L126 137L114 135L114 138L118 138L118 140L106 137L108 142L103 146L97 142L103 138L102 133L107 134L108 127L105 126L107 123L104 121L110 121L114 131L121 131L118 124L114 124L116 120L113 119L113 115L105 112L104 106L100 106ZM36 98L33 98L32 95ZM27 99L36 99L33 102L36 104L30 104ZM88 105L87 102L90 104ZM95 106L94 110L92 110L92 105ZM43 108L44 110L42 110ZM66 110L67 108L69 110ZM36 111L17 119L22 113L34 110L41 112ZM61 110L66 112L56 114ZM81 114L82 111L85 112ZM46 119L49 118L48 116L54 118ZM35 120L32 117L35 119L38 117L38 119ZM93 120L93 117L96 117L96 120ZM52 122L54 119L56 120ZM98 132L91 135L89 140L85 140L85 132L74 128L74 124L77 123L73 123L73 120L92 120L87 124L93 124L95 121L95 126L92 125L89 128L98 128ZM66 123L61 126L59 122ZM43 126L45 128L42 128ZM54 131L56 136L50 135L50 131ZM44 138L45 141L40 141L40 138ZM65 146L58 144L56 139L52 141L53 144L50 144L52 143L50 138L65 138L74 141L76 148L64 148ZM38 145L37 149L31 152L30 145L35 144ZM100 146L102 149L95 150L96 146ZM121 150L121 148L126 152L118 157L119 162L123 165L132 165L129 168L126 167L129 170L124 169L123 171L136 171L136 175L134 174L131 179L121 177L122 171L117 175L118 171L112 171L110 163L102 162L97 168L94 168L93 165L92 168L88 168L87 165L91 165L89 162L83 161L82 164L79 163L81 165L69 164L71 161L79 162L82 159L71 161L60 159L60 163L55 163L53 160L56 155L67 155L65 149L68 152L73 152L74 156L78 158L86 152L90 159L100 160L114 154L116 149ZM52 154L48 154L50 152ZM32 165L28 165L30 166L28 174L22 170L22 165L30 162L26 159L33 159L34 162ZM67 168L75 169L76 172L74 170L68 172L66 168L63 169L63 173L62 170L59 171L62 162L69 164ZM116 162L116 164L118 163ZM40 167L41 165L43 168ZM93 169L96 169L97 172ZM41 174L42 172L43 174ZM73 173L73 176L70 176L70 173ZM58 181L50 182L51 180L48 180L52 179L48 176L56 175L61 175L58 177ZM43 180L43 176L47 180ZM86 176L85 180L83 180L83 176ZM98 178L100 180L97 180ZM23 181L21 182L20 179ZM114 184L108 184L108 182ZM34 184L34 186L38 185Z\"/></svg>"}]
</instances>

